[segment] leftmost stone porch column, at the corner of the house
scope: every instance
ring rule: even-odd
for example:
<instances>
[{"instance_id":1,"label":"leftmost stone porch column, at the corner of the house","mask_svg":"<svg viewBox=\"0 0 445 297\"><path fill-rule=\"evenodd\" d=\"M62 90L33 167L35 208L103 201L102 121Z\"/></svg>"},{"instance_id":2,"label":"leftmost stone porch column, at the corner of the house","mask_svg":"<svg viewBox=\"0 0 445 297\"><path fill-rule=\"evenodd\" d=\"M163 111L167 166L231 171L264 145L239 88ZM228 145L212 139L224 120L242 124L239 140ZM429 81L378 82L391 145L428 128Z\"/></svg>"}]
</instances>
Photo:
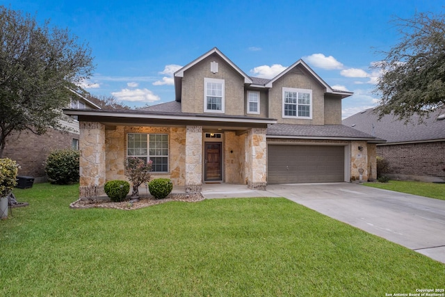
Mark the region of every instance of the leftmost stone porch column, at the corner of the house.
<instances>
[{"instance_id":1,"label":"leftmost stone porch column, at the corner of the house","mask_svg":"<svg viewBox=\"0 0 445 297\"><path fill-rule=\"evenodd\" d=\"M104 195L105 126L99 122L79 123L79 174L80 198L97 198Z\"/></svg>"}]
</instances>

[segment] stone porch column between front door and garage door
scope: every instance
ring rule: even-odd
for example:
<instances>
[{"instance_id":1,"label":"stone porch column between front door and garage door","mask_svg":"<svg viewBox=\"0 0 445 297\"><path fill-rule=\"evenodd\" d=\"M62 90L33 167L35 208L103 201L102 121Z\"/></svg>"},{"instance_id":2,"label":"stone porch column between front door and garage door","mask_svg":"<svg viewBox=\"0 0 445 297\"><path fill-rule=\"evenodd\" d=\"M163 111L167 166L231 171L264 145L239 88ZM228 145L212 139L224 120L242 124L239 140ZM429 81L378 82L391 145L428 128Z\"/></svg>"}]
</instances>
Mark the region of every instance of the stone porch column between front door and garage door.
<instances>
[{"instance_id":1,"label":"stone porch column between front door and garage door","mask_svg":"<svg viewBox=\"0 0 445 297\"><path fill-rule=\"evenodd\" d=\"M266 190L266 129L252 128L248 135L248 188Z\"/></svg>"}]
</instances>

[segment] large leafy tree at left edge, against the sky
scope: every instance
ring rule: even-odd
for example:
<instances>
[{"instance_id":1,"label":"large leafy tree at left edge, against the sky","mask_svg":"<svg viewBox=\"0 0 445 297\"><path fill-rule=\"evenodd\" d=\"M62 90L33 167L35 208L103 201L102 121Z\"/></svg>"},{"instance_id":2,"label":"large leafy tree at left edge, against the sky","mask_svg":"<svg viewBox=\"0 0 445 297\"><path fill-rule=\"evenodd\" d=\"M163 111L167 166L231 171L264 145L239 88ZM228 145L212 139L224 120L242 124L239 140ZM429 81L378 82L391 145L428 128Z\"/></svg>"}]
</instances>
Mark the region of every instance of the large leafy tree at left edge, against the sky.
<instances>
[{"instance_id":1,"label":"large leafy tree at left edge, against the sky","mask_svg":"<svg viewBox=\"0 0 445 297\"><path fill-rule=\"evenodd\" d=\"M94 70L90 53L67 29L0 6L0 158L13 131L63 129L69 88Z\"/></svg>"}]
</instances>

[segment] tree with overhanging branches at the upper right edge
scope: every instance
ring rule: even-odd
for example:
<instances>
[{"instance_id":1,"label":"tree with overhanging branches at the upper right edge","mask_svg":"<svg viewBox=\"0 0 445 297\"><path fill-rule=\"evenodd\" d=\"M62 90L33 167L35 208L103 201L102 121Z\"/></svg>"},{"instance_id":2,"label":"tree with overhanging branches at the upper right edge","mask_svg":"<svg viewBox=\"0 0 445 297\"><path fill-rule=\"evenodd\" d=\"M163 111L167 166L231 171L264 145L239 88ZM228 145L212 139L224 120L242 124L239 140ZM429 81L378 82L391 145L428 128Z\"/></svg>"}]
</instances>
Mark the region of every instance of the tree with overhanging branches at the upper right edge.
<instances>
[{"instance_id":1,"label":"tree with overhanging branches at the upper right edge","mask_svg":"<svg viewBox=\"0 0 445 297\"><path fill-rule=\"evenodd\" d=\"M445 105L445 15L416 13L393 22L401 39L375 63L382 72L376 112L408 122L414 113L423 118Z\"/></svg>"}]
</instances>

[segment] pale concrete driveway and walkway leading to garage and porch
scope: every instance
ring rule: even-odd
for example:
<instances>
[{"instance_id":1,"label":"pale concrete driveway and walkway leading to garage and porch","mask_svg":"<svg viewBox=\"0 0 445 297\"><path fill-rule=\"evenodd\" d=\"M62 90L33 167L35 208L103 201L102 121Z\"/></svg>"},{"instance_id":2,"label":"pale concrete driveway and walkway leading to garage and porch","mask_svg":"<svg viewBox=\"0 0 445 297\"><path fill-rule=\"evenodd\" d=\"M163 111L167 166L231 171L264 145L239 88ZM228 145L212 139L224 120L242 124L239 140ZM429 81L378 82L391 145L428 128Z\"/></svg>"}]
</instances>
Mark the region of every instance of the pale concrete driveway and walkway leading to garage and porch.
<instances>
[{"instance_id":1,"label":"pale concrete driveway and walkway leading to garage and porch","mask_svg":"<svg viewBox=\"0 0 445 297\"><path fill-rule=\"evenodd\" d=\"M284 197L445 263L445 200L359 184L277 184L267 191L207 184L207 198Z\"/></svg>"}]
</instances>

